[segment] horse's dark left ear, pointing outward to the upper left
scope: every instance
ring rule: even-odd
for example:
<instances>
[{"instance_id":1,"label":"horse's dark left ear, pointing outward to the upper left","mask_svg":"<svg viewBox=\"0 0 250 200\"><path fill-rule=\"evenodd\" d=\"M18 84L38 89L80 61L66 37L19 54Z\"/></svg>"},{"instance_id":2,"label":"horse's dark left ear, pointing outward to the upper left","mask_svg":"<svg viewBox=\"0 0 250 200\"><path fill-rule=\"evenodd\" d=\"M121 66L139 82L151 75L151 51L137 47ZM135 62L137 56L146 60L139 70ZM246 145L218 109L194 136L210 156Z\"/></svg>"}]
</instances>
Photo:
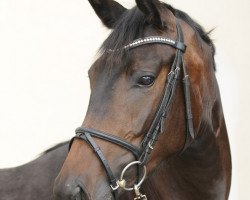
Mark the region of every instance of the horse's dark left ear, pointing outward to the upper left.
<instances>
[{"instance_id":1,"label":"horse's dark left ear, pointing outward to the upper left","mask_svg":"<svg viewBox=\"0 0 250 200\"><path fill-rule=\"evenodd\" d=\"M116 21L127 10L113 0L89 0L89 3L108 28L114 28Z\"/></svg>"}]
</instances>

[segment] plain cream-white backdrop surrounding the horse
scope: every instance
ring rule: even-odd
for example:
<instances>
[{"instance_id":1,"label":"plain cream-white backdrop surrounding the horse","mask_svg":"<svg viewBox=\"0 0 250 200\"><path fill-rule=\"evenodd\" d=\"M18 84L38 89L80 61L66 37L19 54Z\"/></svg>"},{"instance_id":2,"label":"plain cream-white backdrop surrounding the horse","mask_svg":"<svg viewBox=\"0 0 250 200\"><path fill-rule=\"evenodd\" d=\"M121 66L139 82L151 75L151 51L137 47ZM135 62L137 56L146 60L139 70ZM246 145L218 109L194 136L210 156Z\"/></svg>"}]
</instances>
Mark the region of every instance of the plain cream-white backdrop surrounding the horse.
<instances>
[{"instance_id":1,"label":"plain cream-white backdrop surrounding the horse","mask_svg":"<svg viewBox=\"0 0 250 200\"><path fill-rule=\"evenodd\" d=\"M168 3L206 30L215 28L233 156L230 199L250 199L250 2ZM0 0L0 168L26 163L74 135L88 105L87 70L108 33L87 0Z\"/></svg>"}]
</instances>

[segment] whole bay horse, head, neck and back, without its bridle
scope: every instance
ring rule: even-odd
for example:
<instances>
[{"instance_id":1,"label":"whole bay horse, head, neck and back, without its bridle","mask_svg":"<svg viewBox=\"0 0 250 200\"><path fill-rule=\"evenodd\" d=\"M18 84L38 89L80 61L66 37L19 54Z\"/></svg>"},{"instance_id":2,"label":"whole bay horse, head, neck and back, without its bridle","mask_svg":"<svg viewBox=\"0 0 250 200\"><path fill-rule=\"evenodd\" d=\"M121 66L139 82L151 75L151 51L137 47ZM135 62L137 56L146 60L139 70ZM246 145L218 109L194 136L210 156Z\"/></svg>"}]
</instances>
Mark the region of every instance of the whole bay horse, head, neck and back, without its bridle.
<instances>
[{"instance_id":1,"label":"whole bay horse, head, neck and back, without its bridle","mask_svg":"<svg viewBox=\"0 0 250 200\"><path fill-rule=\"evenodd\" d=\"M138 192L148 199L227 199L230 148L214 75L215 49L208 35L187 14L158 1L137 1L137 7L131 10L115 1L90 3L103 23L114 30L103 45L105 51L90 69L90 105L83 123L85 129L78 129L77 137L86 135L86 128L90 128L92 136L91 132L98 129L112 134L113 142L114 136L119 136L117 141L123 141L122 138L132 143L131 147L141 144L162 101L166 75L176 50L165 46L169 42L156 44L156 40L138 48L119 50L138 37L176 39L178 18L187 46L183 60L191 82L194 135L185 130L188 127L185 92L181 85L183 77L179 77L173 102L164 116L165 126L161 127L146 165L148 176ZM23 166L0 170L0 199L52 199L54 179L66 157L54 185L54 199L112 199L112 188L101 162L80 138L72 144L68 157L66 142ZM124 149L100 139L96 141L116 176L133 161L134 157ZM134 170L140 176L143 168ZM127 174L132 177L129 183L138 176L133 170ZM133 198L133 193L121 189L119 199Z\"/></svg>"}]
</instances>

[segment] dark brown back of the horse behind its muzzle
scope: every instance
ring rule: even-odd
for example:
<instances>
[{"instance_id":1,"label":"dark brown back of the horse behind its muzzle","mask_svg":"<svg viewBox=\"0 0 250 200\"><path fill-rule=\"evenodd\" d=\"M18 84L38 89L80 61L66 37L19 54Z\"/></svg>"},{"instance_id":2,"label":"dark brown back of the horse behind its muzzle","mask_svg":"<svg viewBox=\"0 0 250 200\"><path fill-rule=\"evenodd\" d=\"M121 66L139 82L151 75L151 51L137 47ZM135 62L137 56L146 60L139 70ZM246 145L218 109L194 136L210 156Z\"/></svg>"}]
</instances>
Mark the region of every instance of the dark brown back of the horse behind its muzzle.
<instances>
[{"instance_id":1,"label":"dark brown back of the horse behind its muzzle","mask_svg":"<svg viewBox=\"0 0 250 200\"><path fill-rule=\"evenodd\" d=\"M46 150L25 165L0 169L1 200L52 200L53 184L68 153L69 142Z\"/></svg>"}]
</instances>

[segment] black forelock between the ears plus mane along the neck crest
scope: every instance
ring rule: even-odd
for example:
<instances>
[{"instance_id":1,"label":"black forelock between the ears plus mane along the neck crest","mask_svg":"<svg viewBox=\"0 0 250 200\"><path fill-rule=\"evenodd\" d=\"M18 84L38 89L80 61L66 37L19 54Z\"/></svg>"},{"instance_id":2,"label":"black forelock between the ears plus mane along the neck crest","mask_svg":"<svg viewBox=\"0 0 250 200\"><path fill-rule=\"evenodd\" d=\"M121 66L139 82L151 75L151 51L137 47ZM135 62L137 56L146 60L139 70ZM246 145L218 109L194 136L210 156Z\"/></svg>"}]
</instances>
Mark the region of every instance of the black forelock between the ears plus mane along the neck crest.
<instances>
[{"instance_id":1,"label":"black forelock between the ears plus mane along the neck crest","mask_svg":"<svg viewBox=\"0 0 250 200\"><path fill-rule=\"evenodd\" d=\"M177 18L185 21L202 39L203 42L211 47L212 55L215 55L215 46L209 37L209 32L205 32L204 28L194 21L187 13L175 9L169 4L162 3L166 9L169 9ZM124 63L128 51L123 50L123 47L131 43L133 40L144 37L144 27L146 25L145 15L136 7L127 10L123 13L121 18L117 21L114 30L109 37L104 41L100 48L101 54L109 50L116 50L109 52L109 57L106 64ZM214 64L215 69L215 64Z\"/></svg>"}]
</instances>

